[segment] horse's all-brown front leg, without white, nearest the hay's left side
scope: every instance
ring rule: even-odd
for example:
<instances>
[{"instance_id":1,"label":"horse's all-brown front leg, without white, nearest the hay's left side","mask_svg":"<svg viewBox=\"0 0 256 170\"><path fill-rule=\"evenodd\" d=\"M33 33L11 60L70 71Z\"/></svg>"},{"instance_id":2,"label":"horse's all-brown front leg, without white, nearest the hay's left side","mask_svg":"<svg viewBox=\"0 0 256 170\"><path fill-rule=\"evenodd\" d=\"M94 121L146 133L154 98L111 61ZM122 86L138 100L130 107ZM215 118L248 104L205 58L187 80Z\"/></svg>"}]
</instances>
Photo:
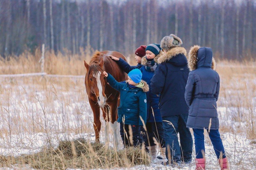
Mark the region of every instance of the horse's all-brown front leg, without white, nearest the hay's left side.
<instances>
[{"instance_id":1,"label":"horse's all-brown front leg, without white, nearest the hay's left side","mask_svg":"<svg viewBox=\"0 0 256 170\"><path fill-rule=\"evenodd\" d=\"M90 99L89 99L89 103L90 103L91 109L93 110L93 122L94 122L93 128L95 131L95 141L99 142L99 131L101 130L101 120L99 118L100 116L99 106L97 102Z\"/></svg>"}]
</instances>

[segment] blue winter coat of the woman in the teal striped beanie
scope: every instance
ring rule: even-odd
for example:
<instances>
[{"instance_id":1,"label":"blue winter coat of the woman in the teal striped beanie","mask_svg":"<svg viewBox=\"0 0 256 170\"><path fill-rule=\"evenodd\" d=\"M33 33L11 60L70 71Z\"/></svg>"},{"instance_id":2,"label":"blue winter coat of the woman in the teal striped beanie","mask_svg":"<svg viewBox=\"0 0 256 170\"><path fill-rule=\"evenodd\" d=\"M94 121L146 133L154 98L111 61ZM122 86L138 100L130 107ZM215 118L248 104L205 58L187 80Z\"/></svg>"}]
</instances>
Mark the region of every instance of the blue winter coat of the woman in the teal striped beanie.
<instances>
[{"instance_id":1,"label":"blue winter coat of the woman in the teal striped beanie","mask_svg":"<svg viewBox=\"0 0 256 170\"><path fill-rule=\"evenodd\" d=\"M154 58L157 59L158 56ZM120 62L121 61L121 62ZM147 95L147 122L162 122L162 117L160 114L160 110L158 109L158 101L159 97L151 92L150 89L150 79L153 77L154 72L149 72L146 70L145 65L147 63L146 57L143 57L141 60L141 67L139 70L141 70L142 73L142 80L146 81L147 84L149 85L149 92L146 93ZM138 66L130 66L126 61L121 58L119 59L118 65L120 68L125 71L125 73L129 73L131 70L136 69ZM154 116L153 112L154 111Z\"/></svg>"}]
</instances>

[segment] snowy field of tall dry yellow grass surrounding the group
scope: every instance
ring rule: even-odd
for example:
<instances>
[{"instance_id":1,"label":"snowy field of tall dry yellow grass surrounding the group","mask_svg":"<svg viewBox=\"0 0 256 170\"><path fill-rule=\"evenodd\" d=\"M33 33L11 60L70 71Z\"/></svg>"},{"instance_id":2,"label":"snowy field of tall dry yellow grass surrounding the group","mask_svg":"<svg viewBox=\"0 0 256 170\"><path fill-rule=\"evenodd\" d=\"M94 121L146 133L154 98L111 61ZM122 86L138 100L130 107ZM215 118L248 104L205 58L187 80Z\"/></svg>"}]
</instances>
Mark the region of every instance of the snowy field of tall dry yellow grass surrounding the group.
<instances>
[{"instance_id":1,"label":"snowy field of tall dry yellow grass surrounding the group","mask_svg":"<svg viewBox=\"0 0 256 170\"><path fill-rule=\"evenodd\" d=\"M79 56L47 52L44 71L85 75L83 60L89 61L91 52L81 51ZM36 51L34 56L1 58L0 74L40 72L40 57ZM135 65L132 57L130 61ZM256 169L256 63L217 60L217 71L221 79L217 110L230 167ZM194 161L179 168L150 162L143 150L123 150L121 139L119 149L112 148L113 142L93 143L93 114L84 78L0 77L0 82L0 169L195 168ZM102 143L104 130L103 123ZM207 133L205 137L207 169L219 169Z\"/></svg>"}]
</instances>

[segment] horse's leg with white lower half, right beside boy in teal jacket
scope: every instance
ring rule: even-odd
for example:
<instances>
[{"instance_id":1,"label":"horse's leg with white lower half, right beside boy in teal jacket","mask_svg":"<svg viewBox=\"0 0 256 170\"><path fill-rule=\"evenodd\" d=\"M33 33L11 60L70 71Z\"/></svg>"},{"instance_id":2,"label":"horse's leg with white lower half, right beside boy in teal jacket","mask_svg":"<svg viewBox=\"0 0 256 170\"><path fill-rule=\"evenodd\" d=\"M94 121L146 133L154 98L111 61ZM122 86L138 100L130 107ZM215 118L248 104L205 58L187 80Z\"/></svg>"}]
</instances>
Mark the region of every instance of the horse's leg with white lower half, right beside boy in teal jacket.
<instances>
[{"instance_id":1,"label":"horse's leg with white lower half, right beside boy in teal jacket","mask_svg":"<svg viewBox=\"0 0 256 170\"><path fill-rule=\"evenodd\" d=\"M110 121L111 121L111 129L113 130L113 138L114 138L114 146L118 147L118 137L117 134L119 134L119 124L117 122L117 105L118 105L118 101L115 100L113 102L111 102L110 105Z\"/></svg>"}]
</instances>

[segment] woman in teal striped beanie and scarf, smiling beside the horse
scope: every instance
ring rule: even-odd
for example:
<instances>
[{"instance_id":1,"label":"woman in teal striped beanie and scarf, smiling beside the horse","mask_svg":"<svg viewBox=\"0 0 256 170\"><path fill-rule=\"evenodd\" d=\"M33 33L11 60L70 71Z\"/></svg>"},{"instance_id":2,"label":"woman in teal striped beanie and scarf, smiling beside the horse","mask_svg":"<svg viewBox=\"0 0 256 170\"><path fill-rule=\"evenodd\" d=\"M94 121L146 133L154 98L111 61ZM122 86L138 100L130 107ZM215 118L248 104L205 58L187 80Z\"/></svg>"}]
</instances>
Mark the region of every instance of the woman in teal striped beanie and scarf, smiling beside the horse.
<instances>
[{"instance_id":1,"label":"woman in teal striped beanie and scarf, smiling beside the horse","mask_svg":"<svg viewBox=\"0 0 256 170\"><path fill-rule=\"evenodd\" d=\"M150 79L154 75L154 71L157 67L155 60L158 58L159 51L161 50L160 44L149 44L144 50L145 55L141 59L142 67L139 69L142 73L142 79L150 84ZM135 52L136 53L136 52ZM111 57L113 60L117 60L116 57ZM119 60L120 61L120 60ZM130 66L127 62L117 62L119 67L129 73L134 69L134 66ZM150 89L150 86L149 86ZM146 93L147 95L147 123L146 129L147 132L143 131L143 140L145 146L148 148L152 158L155 158L157 155L157 145L154 142L154 139L157 139L159 145L161 146L162 155L157 156L158 159L165 159L165 136L163 132L162 117L160 110L158 108L159 96L153 94L150 90ZM154 113L154 114L153 114Z\"/></svg>"}]
</instances>

